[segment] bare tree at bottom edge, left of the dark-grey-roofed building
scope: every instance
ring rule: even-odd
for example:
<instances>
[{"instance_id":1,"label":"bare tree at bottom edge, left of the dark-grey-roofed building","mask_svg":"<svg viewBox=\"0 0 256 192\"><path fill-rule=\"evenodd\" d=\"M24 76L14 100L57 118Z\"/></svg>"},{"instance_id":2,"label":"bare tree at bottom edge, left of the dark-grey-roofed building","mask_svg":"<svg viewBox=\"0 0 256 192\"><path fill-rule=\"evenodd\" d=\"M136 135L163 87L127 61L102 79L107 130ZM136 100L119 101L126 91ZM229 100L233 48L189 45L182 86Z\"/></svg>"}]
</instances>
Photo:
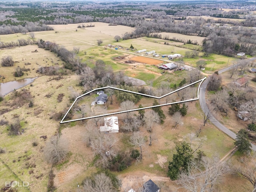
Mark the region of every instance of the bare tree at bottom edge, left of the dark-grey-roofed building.
<instances>
[{"instance_id":1,"label":"bare tree at bottom edge, left of the dark-grey-roofed building","mask_svg":"<svg viewBox=\"0 0 256 192\"><path fill-rule=\"evenodd\" d=\"M111 179L104 173L96 174L93 178L83 181L83 192L115 192Z\"/></svg>"}]
</instances>

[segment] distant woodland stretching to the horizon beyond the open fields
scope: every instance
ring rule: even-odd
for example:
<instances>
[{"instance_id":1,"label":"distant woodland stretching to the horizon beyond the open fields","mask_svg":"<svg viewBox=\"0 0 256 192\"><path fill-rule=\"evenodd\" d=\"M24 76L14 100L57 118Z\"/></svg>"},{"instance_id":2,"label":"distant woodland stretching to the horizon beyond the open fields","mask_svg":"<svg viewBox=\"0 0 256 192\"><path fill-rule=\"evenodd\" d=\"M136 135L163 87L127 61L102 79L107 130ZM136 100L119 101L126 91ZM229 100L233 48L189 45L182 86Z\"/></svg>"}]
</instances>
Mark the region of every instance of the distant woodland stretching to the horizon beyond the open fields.
<instances>
[{"instance_id":1,"label":"distant woodland stretching to the horizon beyond the open fields","mask_svg":"<svg viewBox=\"0 0 256 192\"><path fill-rule=\"evenodd\" d=\"M47 24L106 22L136 27L123 39L150 36L158 32L175 32L206 37L203 47L208 53L232 56L237 52L256 54L256 18L249 1L214 2L1 2L0 34L53 30ZM222 8L240 9L226 12ZM203 19L190 16L212 16ZM236 18L240 20L225 20ZM167 37L160 37L167 38ZM217 42L217 43L216 43Z\"/></svg>"}]
</instances>

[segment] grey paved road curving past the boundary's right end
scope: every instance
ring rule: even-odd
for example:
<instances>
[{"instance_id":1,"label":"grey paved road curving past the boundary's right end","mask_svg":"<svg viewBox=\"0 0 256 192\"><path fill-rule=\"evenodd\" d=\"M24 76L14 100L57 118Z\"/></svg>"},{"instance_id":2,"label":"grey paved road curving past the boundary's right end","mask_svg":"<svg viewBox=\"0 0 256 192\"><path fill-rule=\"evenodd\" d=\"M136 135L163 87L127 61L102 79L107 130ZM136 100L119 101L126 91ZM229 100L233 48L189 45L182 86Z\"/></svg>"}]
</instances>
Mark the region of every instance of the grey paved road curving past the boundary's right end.
<instances>
[{"instance_id":1,"label":"grey paved road curving past the boundary's right end","mask_svg":"<svg viewBox=\"0 0 256 192\"><path fill-rule=\"evenodd\" d=\"M252 61L255 59L256 58L251 58L250 60ZM219 72L219 74L221 74L223 72L226 72L226 71L232 69L232 67L236 67L236 66L232 65L232 66L229 66L222 70L219 70L218 72ZM199 103L200 103L200 106L205 114L208 114L210 112L209 108L206 105L206 100L205 100L206 87L207 87L208 83L209 83L209 78L206 78L206 80L204 80L204 82L202 83L202 85L200 87L200 92L199 92ZM214 124L222 132L226 133L232 139L236 139L236 134L234 132L232 132L231 130L229 130L228 128L226 128L223 124L221 124L213 115L210 116L209 120L212 122L212 124ZM256 145L252 144L252 150L256 151Z\"/></svg>"}]
</instances>

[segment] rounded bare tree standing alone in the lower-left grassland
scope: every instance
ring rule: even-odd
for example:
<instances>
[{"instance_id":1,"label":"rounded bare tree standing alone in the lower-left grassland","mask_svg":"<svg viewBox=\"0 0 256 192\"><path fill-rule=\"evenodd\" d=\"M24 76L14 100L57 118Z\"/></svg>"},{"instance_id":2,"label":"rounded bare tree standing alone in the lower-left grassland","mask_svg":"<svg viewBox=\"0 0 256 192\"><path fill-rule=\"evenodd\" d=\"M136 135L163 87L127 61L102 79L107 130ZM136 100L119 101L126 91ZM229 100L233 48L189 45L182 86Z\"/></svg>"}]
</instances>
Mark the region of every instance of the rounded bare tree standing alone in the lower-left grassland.
<instances>
[{"instance_id":1,"label":"rounded bare tree standing alone in the lower-left grassland","mask_svg":"<svg viewBox=\"0 0 256 192\"><path fill-rule=\"evenodd\" d=\"M68 153L68 142L60 135L50 138L44 147L44 156L51 164L57 164L66 157Z\"/></svg>"}]
</instances>

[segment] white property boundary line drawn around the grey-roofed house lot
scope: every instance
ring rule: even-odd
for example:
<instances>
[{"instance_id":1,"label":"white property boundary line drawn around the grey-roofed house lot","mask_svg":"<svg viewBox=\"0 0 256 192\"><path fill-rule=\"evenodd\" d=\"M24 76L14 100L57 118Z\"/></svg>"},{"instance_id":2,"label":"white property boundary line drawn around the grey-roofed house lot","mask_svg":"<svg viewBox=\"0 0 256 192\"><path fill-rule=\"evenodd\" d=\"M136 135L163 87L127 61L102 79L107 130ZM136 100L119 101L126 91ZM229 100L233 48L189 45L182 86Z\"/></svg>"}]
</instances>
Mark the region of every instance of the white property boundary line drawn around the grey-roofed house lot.
<instances>
[{"instance_id":1,"label":"white property boundary line drawn around the grey-roofed house lot","mask_svg":"<svg viewBox=\"0 0 256 192\"><path fill-rule=\"evenodd\" d=\"M103 116L114 115L114 114L120 114L120 113L125 113L125 112L138 111L138 110L149 109L149 108L154 108L154 107L166 106L166 105L170 105L170 104L176 104L176 103L182 103L182 102L188 102L188 101L195 101L195 100L198 100L198 98L199 98L199 89L200 89L200 86L201 86L202 82L203 82L205 79L206 79L206 77L203 78L203 79L200 79L200 80L198 80L198 81L196 81L196 82L194 82L194 83L191 83L191 84L189 84L189 85L186 85L186 86L184 86L184 87L182 87L182 88L179 88L179 89L177 89L177 90L175 90L175 91L172 91L172 92L170 92L170 93L168 93L168 94L165 94L165 95L163 95L163 96L160 96L160 97L156 97L156 96L152 96L152 95L147 95L147 94L142 94L142 93L138 93L138 92L133 92L133 91L129 91L129 90L124 90L124 89L120 89L120 88L116 88L116 87L111 87L111 86L96 88L96 89L94 89L94 90L91 90L91 91L87 92L86 94L83 94L83 95L77 97L77 98L74 100L74 102L72 103L72 105L70 106L70 108L68 109L68 111L66 112L66 114L64 115L64 117L62 118L62 120L60 121L60 123L68 123L68 122L79 121L79 120L85 120L85 119L90 119L90 118L103 117ZM177 91L179 91L179 90L182 90L182 89L184 89L184 88L187 88L188 86L194 85L194 84L196 84L196 83L198 83L198 82L200 82L200 84L199 84L198 90L197 90L197 98L195 98L195 99L189 99L189 100L184 100L184 101L178 101L178 102L172 102L172 103L166 103L166 104L160 104L160 105L154 105L154 106L149 106L149 107L136 108L136 109L132 109L132 110L126 110L126 111L120 111L120 112L114 112L114 113L108 113L108 114L103 114L103 115L96 115L96 116L92 116L92 117L85 117L85 118L80 118L80 119L74 119L74 120L64 121L64 119L65 119L65 117L67 116L68 112L71 110L71 108L74 106L74 104L76 103L76 101L77 101L79 98L81 98L81 97L83 97L83 96L85 96L85 95L87 95L87 94L89 94L89 93L91 93L91 92L94 92L94 91L96 91L96 90L102 90L102 89L106 89L106 88L112 88L112 89L116 89L116 90L120 90L120 91L125 91L125 92L130 92L130 93L134 93L134 94L139 94L139 95L143 95L143 96L147 96L147 97L151 97L151 98L160 99L160 98L163 98L163 97L165 97L165 96L168 96L168 95L170 95L170 94L172 94L172 93L175 93L175 92L177 92Z\"/></svg>"}]
</instances>

